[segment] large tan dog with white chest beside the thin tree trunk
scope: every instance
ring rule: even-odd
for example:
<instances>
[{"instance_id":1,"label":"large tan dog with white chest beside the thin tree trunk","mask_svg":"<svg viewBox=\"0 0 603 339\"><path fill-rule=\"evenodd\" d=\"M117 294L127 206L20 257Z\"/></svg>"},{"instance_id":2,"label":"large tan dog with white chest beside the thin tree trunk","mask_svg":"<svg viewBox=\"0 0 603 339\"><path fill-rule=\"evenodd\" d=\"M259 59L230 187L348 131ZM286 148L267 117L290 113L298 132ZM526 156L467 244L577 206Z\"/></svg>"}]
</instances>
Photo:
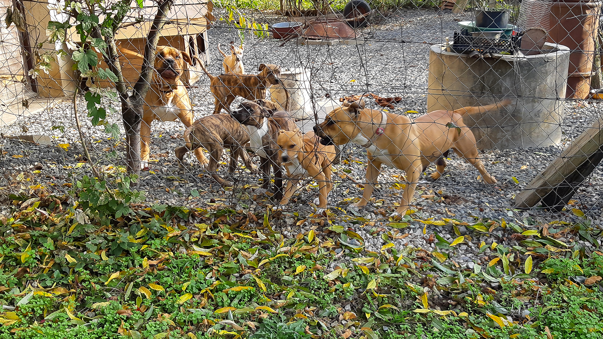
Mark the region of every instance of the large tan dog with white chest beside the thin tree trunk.
<instances>
[{"instance_id":1,"label":"large tan dog with white chest beside the thin tree trunk","mask_svg":"<svg viewBox=\"0 0 603 339\"><path fill-rule=\"evenodd\" d=\"M175 121L180 119L186 127L193 124L191 99L180 77L185 62L192 65L187 52L169 46L157 46L153 84L145 97L144 113L140 125L140 160L142 167L148 165L150 153L151 123L153 120ZM197 160L208 163L200 149L195 150Z\"/></svg>"}]
</instances>

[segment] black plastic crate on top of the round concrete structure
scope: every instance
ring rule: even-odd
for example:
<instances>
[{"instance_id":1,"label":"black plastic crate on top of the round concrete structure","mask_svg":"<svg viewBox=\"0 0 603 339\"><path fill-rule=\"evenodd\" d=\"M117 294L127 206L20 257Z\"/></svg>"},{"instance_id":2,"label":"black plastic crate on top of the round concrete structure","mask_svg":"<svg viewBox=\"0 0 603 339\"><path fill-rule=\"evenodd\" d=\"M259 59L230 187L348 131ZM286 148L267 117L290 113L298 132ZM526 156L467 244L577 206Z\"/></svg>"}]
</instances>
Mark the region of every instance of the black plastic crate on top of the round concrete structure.
<instances>
[{"instance_id":1,"label":"black plastic crate on top of the round concrete structure","mask_svg":"<svg viewBox=\"0 0 603 339\"><path fill-rule=\"evenodd\" d=\"M508 38L494 39L489 37L470 36L467 31L455 32L452 49L457 53L476 51L481 53L501 53L519 51L520 37L515 35Z\"/></svg>"}]
</instances>

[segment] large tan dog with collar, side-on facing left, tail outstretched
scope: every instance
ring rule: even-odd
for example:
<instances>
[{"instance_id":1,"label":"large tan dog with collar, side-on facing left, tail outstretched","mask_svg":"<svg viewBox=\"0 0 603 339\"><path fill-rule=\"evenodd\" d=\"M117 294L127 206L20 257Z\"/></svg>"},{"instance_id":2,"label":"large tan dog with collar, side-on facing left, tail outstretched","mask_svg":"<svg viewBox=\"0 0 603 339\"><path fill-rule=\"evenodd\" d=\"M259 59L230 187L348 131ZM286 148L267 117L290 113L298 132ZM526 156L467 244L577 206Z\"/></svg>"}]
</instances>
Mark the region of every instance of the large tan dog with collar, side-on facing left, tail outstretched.
<instances>
[{"instance_id":1,"label":"large tan dog with collar, side-on facing left, tail outstretched","mask_svg":"<svg viewBox=\"0 0 603 339\"><path fill-rule=\"evenodd\" d=\"M482 107L436 110L413 121L408 116L365 109L364 101L360 100L330 112L323 122L314 126L314 131L324 145L354 142L367 149L366 178L369 185L365 186L356 207L365 206L370 200L382 163L406 172L408 185L402 194L400 207L392 215L396 217L409 209L418 178L429 164L438 160L437 173L432 174L432 178L437 179L444 172L446 162L440 157L450 148L475 166L484 182L496 183L479 159L475 136L464 124L463 115L485 113L509 104L511 101L505 99L499 104Z\"/></svg>"}]
</instances>

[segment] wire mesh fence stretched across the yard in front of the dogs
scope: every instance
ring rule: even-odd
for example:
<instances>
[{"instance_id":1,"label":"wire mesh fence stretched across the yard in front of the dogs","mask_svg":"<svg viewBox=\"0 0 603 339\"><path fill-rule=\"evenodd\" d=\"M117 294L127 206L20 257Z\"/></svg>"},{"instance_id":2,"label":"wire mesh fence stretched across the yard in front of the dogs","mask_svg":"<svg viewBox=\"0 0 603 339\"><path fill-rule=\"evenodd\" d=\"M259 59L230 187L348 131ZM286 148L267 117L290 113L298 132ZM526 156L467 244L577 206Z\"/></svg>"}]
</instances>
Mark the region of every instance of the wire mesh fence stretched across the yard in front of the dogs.
<instances>
[{"instance_id":1,"label":"wire mesh fence stretched across the yard in front of the dogs","mask_svg":"<svg viewBox=\"0 0 603 339\"><path fill-rule=\"evenodd\" d=\"M182 58L171 61L182 83L164 74L163 63L154 64L140 132L142 160L148 161L136 187L145 192L141 202L223 206L243 214L314 214L339 224L358 217L391 221L396 211L407 222L504 218L521 223L571 220L584 212L600 224L603 176L596 160L601 152L596 123L601 112L598 94L591 94L589 85L600 67L600 6L499 2L513 8L509 23L482 30L476 11L469 10L478 4L457 2L452 11L423 2L374 3L370 15L348 13L356 17L350 21L341 14L344 8L317 16L297 2L283 8L308 16L257 10L259 4L233 10L226 4L174 2L159 40L173 49L165 49L160 59ZM1 10L11 8L14 22L0 28L4 203L41 194L74 197L84 176L115 182L125 173L126 141L114 80L98 81L95 74L92 81L80 68L77 52L83 46L76 28L48 28L49 22L69 20L65 5L16 1ZM139 75L156 8L145 1L142 8L128 9L116 33L128 86ZM360 24L364 20L367 25ZM588 28L582 35L553 31L567 20L587 22L582 27ZM294 34L274 39L272 31L281 22L300 24L285 25ZM533 28L544 28L546 36ZM455 31L470 43L455 46ZM512 36L522 36L517 44L529 48L487 49ZM565 46L569 40L573 45ZM98 60L103 60L102 48L96 46ZM227 71L225 57L228 68L236 71L242 63L246 74L221 75ZM108 69L104 61L99 67ZM264 98L276 104L248 103ZM357 107L359 100L364 108ZM221 118L213 115L216 103L225 106ZM185 125L193 121L192 127ZM591 147L578 147L579 138L584 139L580 145ZM186 141L203 152L182 154ZM540 173L570 145L575 152L566 151L566 161L558 160L558 167L548 171L572 187L571 199L557 209L517 209L518 195L538 188L529 183L546 177ZM182 168L177 154L183 155ZM236 159L229 171L230 156ZM253 168L245 165L245 157ZM572 159L581 159L573 168L582 169L584 182L568 169ZM593 163L592 171L580 167L584 160ZM268 177L262 174L262 161L275 163ZM281 200L293 176L301 185L290 199ZM528 207L546 197L558 204L549 192L563 180L545 179L534 193L538 201ZM374 192L362 198L371 186ZM567 189L559 192L567 195ZM354 207L357 203L362 206ZM323 214L324 208L328 212ZM407 209L414 213L406 215Z\"/></svg>"}]
</instances>

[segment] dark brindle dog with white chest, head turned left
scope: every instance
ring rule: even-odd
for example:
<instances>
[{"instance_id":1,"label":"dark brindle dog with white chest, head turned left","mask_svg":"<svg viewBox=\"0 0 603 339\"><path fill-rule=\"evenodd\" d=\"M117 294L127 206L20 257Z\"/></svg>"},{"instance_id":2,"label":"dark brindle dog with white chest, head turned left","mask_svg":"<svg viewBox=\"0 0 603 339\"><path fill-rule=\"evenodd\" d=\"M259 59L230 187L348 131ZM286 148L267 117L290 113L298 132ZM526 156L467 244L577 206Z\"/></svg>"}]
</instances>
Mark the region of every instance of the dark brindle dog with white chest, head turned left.
<instances>
[{"instance_id":1,"label":"dark brindle dog with white chest, head turned left","mask_svg":"<svg viewBox=\"0 0 603 339\"><path fill-rule=\"evenodd\" d=\"M270 167L274 171L275 200L283 196L283 170L276 141L279 130L291 131L297 127L294 119L285 111L277 111L276 105L268 100L243 101L230 115L241 123L249 133L248 150L260 156L260 170L264 181L256 193L263 194L270 188Z\"/></svg>"}]
</instances>

